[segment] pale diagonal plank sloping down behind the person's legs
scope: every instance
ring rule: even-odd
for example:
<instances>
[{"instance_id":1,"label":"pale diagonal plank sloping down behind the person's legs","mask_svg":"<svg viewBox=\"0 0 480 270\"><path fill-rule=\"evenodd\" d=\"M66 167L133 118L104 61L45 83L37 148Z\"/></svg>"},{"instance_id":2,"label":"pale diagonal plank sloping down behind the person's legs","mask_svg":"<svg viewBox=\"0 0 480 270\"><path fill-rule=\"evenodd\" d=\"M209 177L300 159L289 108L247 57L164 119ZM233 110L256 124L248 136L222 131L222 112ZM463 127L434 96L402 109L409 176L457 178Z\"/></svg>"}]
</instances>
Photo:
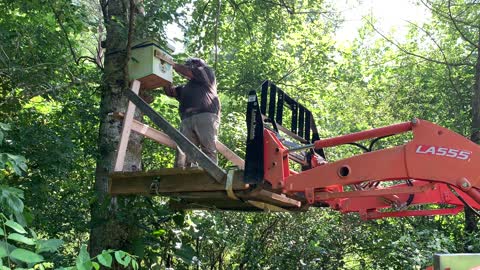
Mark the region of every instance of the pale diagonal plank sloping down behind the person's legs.
<instances>
[{"instance_id":1,"label":"pale diagonal plank sloping down behind the person's legs","mask_svg":"<svg viewBox=\"0 0 480 270\"><path fill-rule=\"evenodd\" d=\"M123 118L123 114L119 112L113 113L113 117L115 118ZM168 137L167 134L161 132L160 130L154 129L148 125L143 124L140 121L133 120L132 123L132 130L144 135L145 137L152 139L160 144L166 145L170 148L176 148L177 144ZM230 150L227 146L225 146L222 142L216 141L215 142L217 151L222 154L227 160L231 161L235 166L239 167L240 169L245 168L245 161L239 157L235 152Z\"/></svg>"}]
</instances>

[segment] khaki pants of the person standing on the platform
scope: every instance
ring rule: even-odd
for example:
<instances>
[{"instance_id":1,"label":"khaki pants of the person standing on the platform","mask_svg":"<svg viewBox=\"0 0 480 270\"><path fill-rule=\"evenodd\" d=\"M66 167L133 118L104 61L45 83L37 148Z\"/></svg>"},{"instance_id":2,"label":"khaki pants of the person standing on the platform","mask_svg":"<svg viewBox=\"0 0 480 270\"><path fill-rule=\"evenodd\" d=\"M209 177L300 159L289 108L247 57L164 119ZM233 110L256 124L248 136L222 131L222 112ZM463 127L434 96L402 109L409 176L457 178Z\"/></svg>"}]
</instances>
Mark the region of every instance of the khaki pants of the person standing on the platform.
<instances>
[{"instance_id":1,"label":"khaki pants of the person standing on the platform","mask_svg":"<svg viewBox=\"0 0 480 270\"><path fill-rule=\"evenodd\" d=\"M218 135L220 119L214 113L199 113L182 120L180 132L187 137L194 145L200 147L202 152L213 162L217 163L217 148L215 141ZM177 146L175 156L175 167L191 167L194 160Z\"/></svg>"}]
</instances>

